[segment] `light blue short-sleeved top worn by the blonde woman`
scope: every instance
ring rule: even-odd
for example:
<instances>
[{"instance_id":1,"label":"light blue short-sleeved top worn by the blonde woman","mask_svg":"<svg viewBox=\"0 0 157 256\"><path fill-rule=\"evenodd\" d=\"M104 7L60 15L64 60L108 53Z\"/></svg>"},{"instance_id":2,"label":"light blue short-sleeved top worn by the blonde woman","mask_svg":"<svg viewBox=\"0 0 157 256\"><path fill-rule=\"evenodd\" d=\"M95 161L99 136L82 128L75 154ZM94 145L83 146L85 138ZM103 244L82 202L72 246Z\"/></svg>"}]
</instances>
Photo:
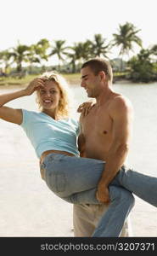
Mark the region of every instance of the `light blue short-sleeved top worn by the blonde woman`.
<instances>
[{"instance_id":1,"label":"light blue short-sleeved top worn by the blonde woman","mask_svg":"<svg viewBox=\"0 0 157 256\"><path fill-rule=\"evenodd\" d=\"M27 137L35 148L37 157L47 150L66 151L79 155L76 137L79 123L75 119L55 120L46 113L37 113L22 109L23 127Z\"/></svg>"}]
</instances>

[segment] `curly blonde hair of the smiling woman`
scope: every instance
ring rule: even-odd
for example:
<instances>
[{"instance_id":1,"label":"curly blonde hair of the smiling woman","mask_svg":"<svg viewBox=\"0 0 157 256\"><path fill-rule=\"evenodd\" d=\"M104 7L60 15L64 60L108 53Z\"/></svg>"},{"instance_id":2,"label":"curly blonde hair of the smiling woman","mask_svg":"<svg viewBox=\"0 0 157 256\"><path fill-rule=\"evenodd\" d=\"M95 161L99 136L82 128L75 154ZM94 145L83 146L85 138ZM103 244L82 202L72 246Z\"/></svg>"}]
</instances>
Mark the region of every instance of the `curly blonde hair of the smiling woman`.
<instances>
[{"instance_id":1,"label":"curly blonde hair of the smiling woman","mask_svg":"<svg viewBox=\"0 0 157 256\"><path fill-rule=\"evenodd\" d=\"M59 73L54 71L42 73L40 78L46 78L48 81L53 81L55 84L58 85L60 90L60 100L59 100L59 107L57 116L59 118L66 118L70 116L71 111L71 91L69 85L67 84L66 80L61 76ZM40 105L39 96L36 93L36 102L38 104L39 109L41 110L42 106Z\"/></svg>"}]
</instances>

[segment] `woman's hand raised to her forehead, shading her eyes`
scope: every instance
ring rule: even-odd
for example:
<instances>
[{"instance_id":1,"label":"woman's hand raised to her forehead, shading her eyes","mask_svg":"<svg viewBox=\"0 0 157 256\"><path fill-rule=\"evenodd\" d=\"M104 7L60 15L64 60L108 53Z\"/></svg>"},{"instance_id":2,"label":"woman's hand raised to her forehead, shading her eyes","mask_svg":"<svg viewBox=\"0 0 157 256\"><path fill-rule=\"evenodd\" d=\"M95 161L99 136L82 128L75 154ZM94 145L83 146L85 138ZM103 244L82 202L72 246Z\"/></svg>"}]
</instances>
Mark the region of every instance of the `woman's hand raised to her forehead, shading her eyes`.
<instances>
[{"instance_id":1,"label":"woman's hand raised to her forehead, shading her eyes","mask_svg":"<svg viewBox=\"0 0 157 256\"><path fill-rule=\"evenodd\" d=\"M46 78L36 78L31 81L31 83L25 88L25 95L30 96L35 90L44 88L44 84L48 79Z\"/></svg>"}]
</instances>

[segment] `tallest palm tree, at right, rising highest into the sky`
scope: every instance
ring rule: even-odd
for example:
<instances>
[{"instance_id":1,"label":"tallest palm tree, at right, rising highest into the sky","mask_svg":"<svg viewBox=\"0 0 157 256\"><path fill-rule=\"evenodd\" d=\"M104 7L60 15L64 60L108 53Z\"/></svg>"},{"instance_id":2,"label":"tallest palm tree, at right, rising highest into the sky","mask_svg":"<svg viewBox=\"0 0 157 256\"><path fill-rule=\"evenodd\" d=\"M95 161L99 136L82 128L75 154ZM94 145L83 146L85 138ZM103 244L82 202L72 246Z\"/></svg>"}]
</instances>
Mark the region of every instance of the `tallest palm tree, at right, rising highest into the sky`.
<instances>
[{"instance_id":1,"label":"tallest palm tree, at right, rising highest into the sky","mask_svg":"<svg viewBox=\"0 0 157 256\"><path fill-rule=\"evenodd\" d=\"M123 56L129 54L130 50L133 50L133 43L142 47L141 38L137 37L137 32L140 29L137 29L132 23L126 22L124 25L119 26L119 33L113 34L113 46L117 45L121 47L119 55L121 55L121 65ZM121 67L122 69L122 67Z\"/></svg>"}]
</instances>

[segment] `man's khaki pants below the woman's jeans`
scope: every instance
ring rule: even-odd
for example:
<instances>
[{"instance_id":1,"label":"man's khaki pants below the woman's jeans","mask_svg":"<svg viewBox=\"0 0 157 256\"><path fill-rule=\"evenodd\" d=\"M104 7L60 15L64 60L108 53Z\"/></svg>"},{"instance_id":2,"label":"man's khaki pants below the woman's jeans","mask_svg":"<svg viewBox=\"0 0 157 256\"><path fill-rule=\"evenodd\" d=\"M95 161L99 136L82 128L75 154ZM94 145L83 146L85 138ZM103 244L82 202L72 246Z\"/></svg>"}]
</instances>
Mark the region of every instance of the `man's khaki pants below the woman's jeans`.
<instances>
[{"instance_id":1,"label":"man's khaki pants below the woman's jeans","mask_svg":"<svg viewBox=\"0 0 157 256\"><path fill-rule=\"evenodd\" d=\"M103 215L103 212L107 210L107 205L73 205L73 225L74 236L90 237L95 230L99 218ZM132 236L131 227L129 224L129 218L125 222L121 231L121 237Z\"/></svg>"}]
</instances>

